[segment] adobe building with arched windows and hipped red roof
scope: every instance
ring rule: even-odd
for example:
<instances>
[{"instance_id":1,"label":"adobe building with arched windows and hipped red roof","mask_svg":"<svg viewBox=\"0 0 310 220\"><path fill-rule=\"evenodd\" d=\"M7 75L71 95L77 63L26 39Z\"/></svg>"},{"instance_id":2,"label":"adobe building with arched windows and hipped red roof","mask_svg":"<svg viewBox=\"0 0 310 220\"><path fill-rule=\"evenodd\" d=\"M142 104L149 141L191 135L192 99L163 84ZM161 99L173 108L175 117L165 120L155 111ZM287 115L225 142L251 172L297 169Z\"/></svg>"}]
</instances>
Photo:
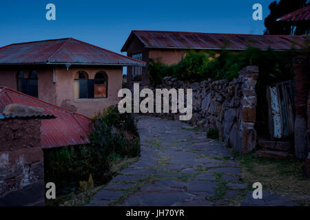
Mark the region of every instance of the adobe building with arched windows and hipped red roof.
<instances>
[{"instance_id":1,"label":"adobe building with arched windows and hipped red roof","mask_svg":"<svg viewBox=\"0 0 310 220\"><path fill-rule=\"evenodd\" d=\"M91 117L118 102L123 67L143 65L72 38L16 43L0 48L0 87Z\"/></svg>"}]
</instances>

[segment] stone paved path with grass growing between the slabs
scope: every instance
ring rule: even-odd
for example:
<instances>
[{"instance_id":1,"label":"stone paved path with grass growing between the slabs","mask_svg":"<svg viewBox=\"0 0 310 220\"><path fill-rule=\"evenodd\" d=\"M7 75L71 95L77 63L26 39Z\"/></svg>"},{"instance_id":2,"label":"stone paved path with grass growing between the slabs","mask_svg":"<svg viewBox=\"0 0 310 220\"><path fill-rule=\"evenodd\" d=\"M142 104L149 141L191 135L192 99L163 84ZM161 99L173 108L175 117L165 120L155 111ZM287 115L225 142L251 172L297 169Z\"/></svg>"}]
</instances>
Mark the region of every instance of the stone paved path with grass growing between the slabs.
<instances>
[{"instance_id":1,"label":"stone paved path with grass growing between the slabs","mask_svg":"<svg viewBox=\"0 0 310 220\"><path fill-rule=\"evenodd\" d=\"M241 168L222 143L182 122L136 118L140 159L86 206L225 206L245 191Z\"/></svg>"}]
</instances>

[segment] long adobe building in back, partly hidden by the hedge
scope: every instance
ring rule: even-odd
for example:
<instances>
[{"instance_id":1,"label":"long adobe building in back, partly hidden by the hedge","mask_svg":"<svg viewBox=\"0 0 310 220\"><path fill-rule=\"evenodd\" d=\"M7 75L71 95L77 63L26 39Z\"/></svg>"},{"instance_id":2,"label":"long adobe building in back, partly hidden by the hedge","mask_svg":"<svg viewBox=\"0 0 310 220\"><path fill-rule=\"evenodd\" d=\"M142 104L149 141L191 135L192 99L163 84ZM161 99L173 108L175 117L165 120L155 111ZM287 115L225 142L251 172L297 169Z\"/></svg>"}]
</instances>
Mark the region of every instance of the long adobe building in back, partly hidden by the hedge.
<instances>
[{"instance_id":1,"label":"long adobe building in back, partly hidden by the hedge","mask_svg":"<svg viewBox=\"0 0 310 220\"><path fill-rule=\"evenodd\" d=\"M165 65L180 62L189 50L214 51L226 50L239 52L248 47L260 50L285 51L295 47L302 49L305 36L253 35L253 34L209 34L198 32L169 32L133 30L123 45L121 52L145 63L150 59ZM128 67L128 87L132 82L149 85L147 67Z\"/></svg>"}]
</instances>

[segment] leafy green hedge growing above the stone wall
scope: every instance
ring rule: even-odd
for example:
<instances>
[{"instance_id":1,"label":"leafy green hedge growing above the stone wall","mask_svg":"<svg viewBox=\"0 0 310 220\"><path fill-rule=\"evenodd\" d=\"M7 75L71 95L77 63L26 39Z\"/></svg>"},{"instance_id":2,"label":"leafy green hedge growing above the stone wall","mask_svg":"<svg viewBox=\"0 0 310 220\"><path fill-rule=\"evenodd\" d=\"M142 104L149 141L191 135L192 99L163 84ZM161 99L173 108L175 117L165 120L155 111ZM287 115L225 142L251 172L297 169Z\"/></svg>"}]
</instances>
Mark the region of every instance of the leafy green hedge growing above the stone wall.
<instances>
[{"instance_id":1,"label":"leafy green hedge growing above the stone wall","mask_svg":"<svg viewBox=\"0 0 310 220\"><path fill-rule=\"evenodd\" d=\"M148 74L153 86L160 84L165 76L190 83L208 78L232 80L238 77L238 72L243 67L256 65L260 69L260 78L268 83L277 83L292 77L293 56L296 56L294 50L275 52L274 50L261 51L256 48L248 48L238 53L223 49L217 55L214 52L190 51L176 65L167 66L151 60Z\"/></svg>"}]
</instances>

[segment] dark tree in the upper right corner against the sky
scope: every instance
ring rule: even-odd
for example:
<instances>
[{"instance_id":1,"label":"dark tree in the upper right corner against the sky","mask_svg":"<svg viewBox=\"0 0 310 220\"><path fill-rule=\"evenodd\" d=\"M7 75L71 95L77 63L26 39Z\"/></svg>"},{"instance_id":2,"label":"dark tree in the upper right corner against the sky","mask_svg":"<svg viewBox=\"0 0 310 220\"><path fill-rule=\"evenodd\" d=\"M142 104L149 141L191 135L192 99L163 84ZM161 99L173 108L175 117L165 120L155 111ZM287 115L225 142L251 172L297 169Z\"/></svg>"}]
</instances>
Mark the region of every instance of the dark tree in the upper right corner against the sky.
<instances>
[{"instance_id":1,"label":"dark tree in the upper right corner against the sky","mask_svg":"<svg viewBox=\"0 0 310 220\"><path fill-rule=\"evenodd\" d=\"M270 14L265 19L266 30L264 34L291 34L291 24L276 21L285 14L296 11L309 5L309 0L280 0L269 5ZM297 27L293 34L304 34L307 28Z\"/></svg>"}]
</instances>

